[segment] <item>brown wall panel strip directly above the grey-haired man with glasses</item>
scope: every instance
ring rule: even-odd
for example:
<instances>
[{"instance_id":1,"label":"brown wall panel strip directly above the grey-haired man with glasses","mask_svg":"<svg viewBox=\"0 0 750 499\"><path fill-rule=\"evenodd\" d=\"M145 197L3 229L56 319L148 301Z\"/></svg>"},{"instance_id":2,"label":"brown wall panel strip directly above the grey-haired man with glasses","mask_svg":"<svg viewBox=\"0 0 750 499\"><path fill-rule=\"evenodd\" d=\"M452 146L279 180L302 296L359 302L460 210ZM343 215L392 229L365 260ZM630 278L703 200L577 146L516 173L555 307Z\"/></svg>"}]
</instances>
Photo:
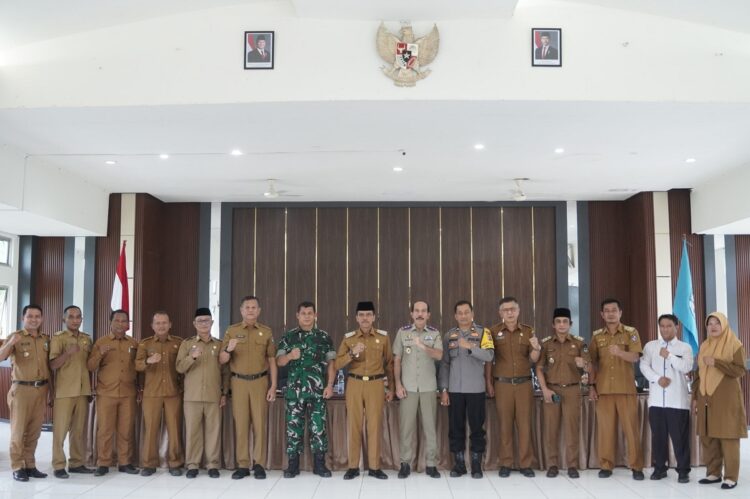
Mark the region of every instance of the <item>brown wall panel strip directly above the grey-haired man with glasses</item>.
<instances>
[{"instance_id":1,"label":"brown wall panel strip directly above the grey-haired man with glasses","mask_svg":"<svg viewBox=\"0 0 750 499\"><path fill-rule=\"evenodd\" d=\"M521 307L520 322L534 323L531 208L503 208L505 295Z\"/></svg>"}]
</instances>

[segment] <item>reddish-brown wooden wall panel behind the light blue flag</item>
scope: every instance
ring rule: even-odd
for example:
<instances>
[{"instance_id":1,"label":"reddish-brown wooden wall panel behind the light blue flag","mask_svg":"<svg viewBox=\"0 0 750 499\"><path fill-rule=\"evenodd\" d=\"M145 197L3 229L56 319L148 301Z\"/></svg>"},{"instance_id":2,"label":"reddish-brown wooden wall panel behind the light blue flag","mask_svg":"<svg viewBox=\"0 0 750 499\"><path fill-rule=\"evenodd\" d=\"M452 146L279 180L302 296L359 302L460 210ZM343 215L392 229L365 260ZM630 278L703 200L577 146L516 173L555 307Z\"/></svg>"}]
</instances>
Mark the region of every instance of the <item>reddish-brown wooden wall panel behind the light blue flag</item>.
<instances>
[{"instance_id":1,"label":"reddish-brown wooden wall panel behind the light blue flag","mask_svg":"<svg viewBox=\"0 0 750 499\"><path fill-rule=\"evenodd\" d=\"M669 248L672 257L672 296L677 286L682 258L682 236L688 242L690 274L693 277L693 299L695 301L695 321L698 326L698 338L705 338L706 293L705 269L703 266L703 236L693 234L690 215L690 190L672 189L669 197Z\"/></svg>"}]
</instances>

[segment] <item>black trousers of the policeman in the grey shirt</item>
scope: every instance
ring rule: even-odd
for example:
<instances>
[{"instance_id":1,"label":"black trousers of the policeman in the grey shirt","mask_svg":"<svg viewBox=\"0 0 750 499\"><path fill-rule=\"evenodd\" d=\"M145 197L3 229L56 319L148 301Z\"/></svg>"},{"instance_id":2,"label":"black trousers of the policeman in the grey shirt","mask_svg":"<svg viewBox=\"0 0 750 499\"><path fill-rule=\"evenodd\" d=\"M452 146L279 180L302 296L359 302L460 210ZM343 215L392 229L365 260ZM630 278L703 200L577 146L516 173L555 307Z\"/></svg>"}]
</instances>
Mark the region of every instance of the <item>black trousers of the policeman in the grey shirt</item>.
<instances>
[{"instance_id":1,"label":"black trousers of the policeman in the grey shirt","mask_svg":"<svg viewBox=\"0 0 750 499\"><path fill-rule=\"evenodd\" d=\"M448 439L451 452L466 450L466 420L469 420L471 452L484 453L487 439L484 431L485 395L482 393L449 393ZM467 418L468 417L468 418Z\"/></svg>"}]
</instances>

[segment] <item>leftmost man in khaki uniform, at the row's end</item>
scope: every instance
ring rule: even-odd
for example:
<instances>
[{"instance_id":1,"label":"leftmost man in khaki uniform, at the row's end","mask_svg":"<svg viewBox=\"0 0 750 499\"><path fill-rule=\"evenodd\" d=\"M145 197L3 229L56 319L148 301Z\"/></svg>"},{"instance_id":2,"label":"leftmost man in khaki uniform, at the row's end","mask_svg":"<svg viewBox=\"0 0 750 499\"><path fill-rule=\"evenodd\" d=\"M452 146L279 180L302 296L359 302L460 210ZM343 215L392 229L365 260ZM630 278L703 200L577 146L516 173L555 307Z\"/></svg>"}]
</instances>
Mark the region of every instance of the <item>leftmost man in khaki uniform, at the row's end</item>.
<instances>
[{"instance_id":1,"label":"leftmost man in khaki uniform, at the row's end","mask_svg":"<svg viewBox=\"0 0 750 499\"><path fill-rule=\"evenodd\" d=\"M23 329L11 334L0 348L0 361L11 358L10 467L13 479L46 478L36 469L36 444L42 432L44 409L49 397L49 338L39 328L42 308L23 307Z\"/></svg>"}]
</instances>

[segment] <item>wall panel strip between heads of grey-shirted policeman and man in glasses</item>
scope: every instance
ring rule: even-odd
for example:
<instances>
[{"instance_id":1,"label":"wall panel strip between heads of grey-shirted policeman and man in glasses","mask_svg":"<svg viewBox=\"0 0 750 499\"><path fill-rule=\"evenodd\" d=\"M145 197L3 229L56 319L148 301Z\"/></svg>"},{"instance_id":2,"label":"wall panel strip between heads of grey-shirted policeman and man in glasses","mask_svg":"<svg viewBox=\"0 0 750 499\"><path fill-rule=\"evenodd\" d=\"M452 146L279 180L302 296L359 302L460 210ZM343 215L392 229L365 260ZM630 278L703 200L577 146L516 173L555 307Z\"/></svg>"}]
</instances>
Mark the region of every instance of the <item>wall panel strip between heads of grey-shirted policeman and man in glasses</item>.
<instances>
[{"instance_id":1,"label":"wall panel strip between heads of grey-shirted policeman and man in glasses","mask_svg":"<svg viewBox=\"0 0 750 499\"><path fill-rule=\"evenodd\" d=\"M498 321L497 302L502 294L500 208L472 208L474 253L474 320L491 326Z\"/></svg>"}]
</instances>

